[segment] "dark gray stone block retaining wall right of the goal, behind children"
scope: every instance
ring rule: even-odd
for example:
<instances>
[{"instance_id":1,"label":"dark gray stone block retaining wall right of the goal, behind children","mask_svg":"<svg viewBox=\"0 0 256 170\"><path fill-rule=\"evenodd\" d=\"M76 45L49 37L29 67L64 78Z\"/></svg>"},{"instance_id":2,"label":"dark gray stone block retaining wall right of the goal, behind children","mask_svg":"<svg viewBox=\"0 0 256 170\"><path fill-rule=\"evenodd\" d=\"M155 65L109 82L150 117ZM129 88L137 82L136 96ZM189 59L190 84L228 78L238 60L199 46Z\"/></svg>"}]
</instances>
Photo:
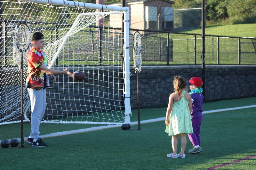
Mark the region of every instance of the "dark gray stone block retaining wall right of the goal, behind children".
<instances>
[{"instance_id":1,"label":"dark gray stone block retaining wall right of the goal, behind children","mask_svg":"<svg viewBox=\"0 0 256 170\"><path fill-rule=\"evenodd\" d=\"M137 105L137 74L131 68L131 107ZM142 66L139 73L140 107L168 105L172 80L180 75L189 80L202 78L201 66ZM204 100L224 100L256 96L255 65L205 66ZM256 101L255 101L256 102Z\"/></svg>"}]
</instances>

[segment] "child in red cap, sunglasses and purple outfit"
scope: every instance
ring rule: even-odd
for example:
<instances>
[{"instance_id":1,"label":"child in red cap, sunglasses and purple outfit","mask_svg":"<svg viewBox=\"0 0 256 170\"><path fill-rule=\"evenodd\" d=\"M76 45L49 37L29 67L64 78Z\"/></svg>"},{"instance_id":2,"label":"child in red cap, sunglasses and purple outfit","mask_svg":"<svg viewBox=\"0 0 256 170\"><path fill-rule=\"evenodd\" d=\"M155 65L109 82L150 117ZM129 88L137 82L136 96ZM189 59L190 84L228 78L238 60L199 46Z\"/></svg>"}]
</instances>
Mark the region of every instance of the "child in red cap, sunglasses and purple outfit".
<instances>
[{"instance_id":1,"label":"child in red cap, sunglasses and purple outfit","mask_svg":"<svg viewBox=\"0 0 256 170\"><path fill-rule=\"evenodd\" d=\"M203 120L203 100L202 94L203 80L199 77L193 77L187 81L191 92L189 92L192 100L192 112L191 121L193 126L192 134L188 134L188 138L193 144L193 148L188 151L189 154L202 152L201 140L200 140L200 129Z\"/></svg>"}]
</instances>

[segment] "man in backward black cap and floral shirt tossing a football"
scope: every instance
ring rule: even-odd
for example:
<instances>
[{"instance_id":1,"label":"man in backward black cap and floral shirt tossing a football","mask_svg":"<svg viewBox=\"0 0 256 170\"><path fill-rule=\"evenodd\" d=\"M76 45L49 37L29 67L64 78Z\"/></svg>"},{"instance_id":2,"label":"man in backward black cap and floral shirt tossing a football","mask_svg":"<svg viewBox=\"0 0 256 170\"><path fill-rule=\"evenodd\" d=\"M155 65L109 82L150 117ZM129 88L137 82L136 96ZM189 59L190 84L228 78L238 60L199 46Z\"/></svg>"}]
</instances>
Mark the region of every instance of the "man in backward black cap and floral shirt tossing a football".
<instances>
[{"instance_id":1,"label":"man in backward black cap and floral shirt tossing a football","mask_svg":"<svg viewBox=\"0 0 256 170\"><path fill-rule=\"evenodd\" d=\"M32 146L48 146L42 141L39 134L39 126L44 116L46 106L45 87L49 86L48 75L56 81L53 74L67 74L72 76L72 73L66 68L63 71L47 68L47 57L41 49L44 48L44 35L36 32L32 37L32 44L28 53L28 72L26 86L31 102L31 131L27 142Z\"/></svg>"}]
</instances>

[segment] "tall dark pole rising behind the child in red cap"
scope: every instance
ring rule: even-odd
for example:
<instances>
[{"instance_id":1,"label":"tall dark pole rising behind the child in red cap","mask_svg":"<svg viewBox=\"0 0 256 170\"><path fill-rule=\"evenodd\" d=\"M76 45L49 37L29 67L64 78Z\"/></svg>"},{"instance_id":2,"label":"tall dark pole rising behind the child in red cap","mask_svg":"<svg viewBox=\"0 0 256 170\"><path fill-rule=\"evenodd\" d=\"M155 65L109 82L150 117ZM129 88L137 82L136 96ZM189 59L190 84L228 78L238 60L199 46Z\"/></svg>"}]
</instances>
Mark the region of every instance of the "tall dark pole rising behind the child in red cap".
<instances>
[{"instance_id":1,"label":"tall dark pole rising behind the child in red cap","mask_svg":"<svg viewBox=\"0 0 256 170\"><path fill-rule=\"evenodd\" d=\"M204 0L202 0L202 80L203 80L203 86L202 88L204 89L204 84L205 84L205 63L204 63L204 58L205 58L205 32L204 32L204 25L205 25L205 11L204 11ZM203 90L202 94L204 96L205 90Z\"/></svg>"}]
</instances>

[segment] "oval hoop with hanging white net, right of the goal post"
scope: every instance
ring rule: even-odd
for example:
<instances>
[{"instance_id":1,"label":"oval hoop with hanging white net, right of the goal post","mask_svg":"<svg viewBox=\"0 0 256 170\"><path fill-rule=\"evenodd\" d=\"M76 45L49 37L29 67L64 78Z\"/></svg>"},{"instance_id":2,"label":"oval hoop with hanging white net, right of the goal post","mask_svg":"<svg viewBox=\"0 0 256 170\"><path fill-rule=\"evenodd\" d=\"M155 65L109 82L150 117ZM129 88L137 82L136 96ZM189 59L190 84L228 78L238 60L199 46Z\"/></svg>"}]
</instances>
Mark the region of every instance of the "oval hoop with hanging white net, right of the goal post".
<instances>
[{"instance_id":1,"label":"oval hoop with hanging white net, right of the goal post","mask_svg":"<svg viewBox=\"0 0 256 170\"><path fill-rule=\"evenodd\" d=\"M141 71L141 49L142 49L142 39L139 32L135 32L133 36L133 68L136 71Z\"/></svg>"}]
</instances>

